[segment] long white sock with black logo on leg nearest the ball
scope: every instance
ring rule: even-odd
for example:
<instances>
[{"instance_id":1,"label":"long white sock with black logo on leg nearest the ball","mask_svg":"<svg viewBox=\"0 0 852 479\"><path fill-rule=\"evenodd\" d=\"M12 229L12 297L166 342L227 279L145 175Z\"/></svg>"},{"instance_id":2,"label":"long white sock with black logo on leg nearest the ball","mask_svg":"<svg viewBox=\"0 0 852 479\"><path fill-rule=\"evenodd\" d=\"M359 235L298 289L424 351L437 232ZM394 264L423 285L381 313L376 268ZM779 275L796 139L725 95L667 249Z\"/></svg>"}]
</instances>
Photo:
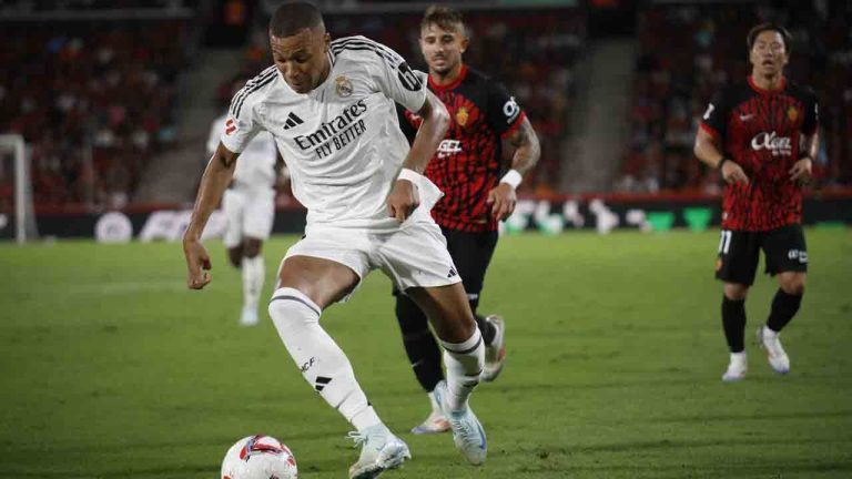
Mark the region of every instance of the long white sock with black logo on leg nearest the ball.
<instances>
[{"instance_id":1,"label":"long white sock with black logo on leg nearest the ball","mask_svg":"<svg viewBox=\"0 0 852 479\"><path fill-rule=\"evenodd\" d=\"M382 425L355 379L349 359L320 326L321 313L320 306L294 288L276 289L270 302L270 317L278 336L311 387L358 431Z\"/></svg>"}]
</instances>

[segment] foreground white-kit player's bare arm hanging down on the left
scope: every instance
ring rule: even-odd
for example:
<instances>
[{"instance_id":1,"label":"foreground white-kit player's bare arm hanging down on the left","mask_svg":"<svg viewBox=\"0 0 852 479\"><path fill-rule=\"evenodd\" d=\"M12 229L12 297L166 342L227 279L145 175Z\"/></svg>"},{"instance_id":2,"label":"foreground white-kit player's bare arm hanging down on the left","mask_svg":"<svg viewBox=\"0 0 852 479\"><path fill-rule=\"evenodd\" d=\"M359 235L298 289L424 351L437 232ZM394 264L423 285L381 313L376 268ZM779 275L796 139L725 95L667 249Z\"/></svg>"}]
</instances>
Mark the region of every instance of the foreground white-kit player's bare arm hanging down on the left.
<instances>
[{"instance_id":1,"label":"foreground white-kit player's bare arm hanging down on the left","mask_svg":"<svg viewBox=\"0 0 852 479\"><path fill-rule=\"evenodd\" d=\"M237 153L232 153L220 143L201 177L190 225L183 234L183 255L186 258L187 271L186 286L192 289L201 289L211 281L207 271L213 266L207 251L201 243L201 233L204 232L204 225L207 224L211 213L219 205L222 194L234 176L237 156Z\"/></svg>"}]
</instances>

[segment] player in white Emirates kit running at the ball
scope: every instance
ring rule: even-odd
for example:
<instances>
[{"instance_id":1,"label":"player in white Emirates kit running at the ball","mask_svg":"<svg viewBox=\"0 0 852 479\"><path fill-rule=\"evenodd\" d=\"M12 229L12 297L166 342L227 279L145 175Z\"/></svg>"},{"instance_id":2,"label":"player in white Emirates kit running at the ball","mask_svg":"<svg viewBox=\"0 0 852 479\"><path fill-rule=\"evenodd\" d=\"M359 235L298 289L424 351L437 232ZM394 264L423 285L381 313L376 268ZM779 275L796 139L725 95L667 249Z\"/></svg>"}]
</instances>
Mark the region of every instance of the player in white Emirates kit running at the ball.
<instances>
[{"instance_id":1,"label":"player in white Emirates kit running at the ball","mask_svg":"<svg viewBox=\"0 0 852 479\"><path fill-rule=\"evenodd\" d=\"M446 108L427 90L425 74L393 50L363 37L332 42L322 14L308 3L275 11L270 43L275 64L234 96L202 177L183 238L189 287L210 283L201 233L237 156L256 133L268 131L290 169L293 194L308 211L305 237L282 262L270 316L304 378L357 430L352 437L363 448L349 477L375 478L410 457L320 326L323 309L347 298L376 268L429 318L447 368L436 397L456 447L469 462L483 463L486 437L468 397L479 383L485 347L429 215L440 192L420 174L448 128ZM394 102L424 119L410 150Z\"/></svg>"}]
</instances>

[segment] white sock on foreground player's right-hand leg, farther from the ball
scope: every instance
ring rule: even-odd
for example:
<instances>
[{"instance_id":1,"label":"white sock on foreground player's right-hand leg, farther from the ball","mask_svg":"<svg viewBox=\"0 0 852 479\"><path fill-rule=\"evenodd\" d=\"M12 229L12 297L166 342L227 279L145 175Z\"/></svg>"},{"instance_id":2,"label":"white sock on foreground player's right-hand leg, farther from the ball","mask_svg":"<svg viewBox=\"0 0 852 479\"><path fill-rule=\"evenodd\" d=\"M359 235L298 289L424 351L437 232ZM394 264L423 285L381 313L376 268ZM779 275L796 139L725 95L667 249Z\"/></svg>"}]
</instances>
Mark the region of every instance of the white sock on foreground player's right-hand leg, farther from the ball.
<instances>
[{"instance_id":1,"label":"white sock on foreground player's right-hand leg, farther from the ball","mask_svg":"<svg viewBox=\"0 0 852 479\"><path fill-rule=\"evenodd\" d=\"M485 343L479 328L464 343L440 342L444 346L444 364L447 367L447 390L449 408L464 410L467 398L479 384L479 375L485 364Z\"/></svg>"}]
</instances>

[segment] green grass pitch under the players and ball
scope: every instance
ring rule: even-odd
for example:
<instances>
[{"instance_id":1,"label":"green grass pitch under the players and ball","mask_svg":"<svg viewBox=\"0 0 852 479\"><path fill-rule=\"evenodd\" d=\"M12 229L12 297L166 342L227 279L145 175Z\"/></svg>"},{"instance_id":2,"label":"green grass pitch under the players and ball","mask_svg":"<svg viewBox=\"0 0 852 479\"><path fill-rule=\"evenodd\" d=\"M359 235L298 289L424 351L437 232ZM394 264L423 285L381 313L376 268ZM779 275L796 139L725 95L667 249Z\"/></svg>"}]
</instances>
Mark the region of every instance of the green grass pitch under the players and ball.
<instances>
[{"instance_id":1,"label":"green grass pitch under the players and ball","mask_svg":"<svg viewBox=\"0 0 852 479\"><path fill-rule=\"evenodd\" d=\"M265 246L267 273L295 237ZM852 234L808 231L811 272L775 376L751 339L722 384L718 233L525 234L500 241L481 310L508 363L473 406L489 457L415 437L427 412L374 273L323 324L414 460L390 478L852 477ZM348 425L312 390L268 318L236 325L240 276L209 242L213 283L184 287L178 244L0 245L0 478L215 478L227 447L281 438L302 478L345 478ZM272 281L267 281L266 293ZM264 297L268 297L264 294Z\"/></svg>"}]
</instances>

